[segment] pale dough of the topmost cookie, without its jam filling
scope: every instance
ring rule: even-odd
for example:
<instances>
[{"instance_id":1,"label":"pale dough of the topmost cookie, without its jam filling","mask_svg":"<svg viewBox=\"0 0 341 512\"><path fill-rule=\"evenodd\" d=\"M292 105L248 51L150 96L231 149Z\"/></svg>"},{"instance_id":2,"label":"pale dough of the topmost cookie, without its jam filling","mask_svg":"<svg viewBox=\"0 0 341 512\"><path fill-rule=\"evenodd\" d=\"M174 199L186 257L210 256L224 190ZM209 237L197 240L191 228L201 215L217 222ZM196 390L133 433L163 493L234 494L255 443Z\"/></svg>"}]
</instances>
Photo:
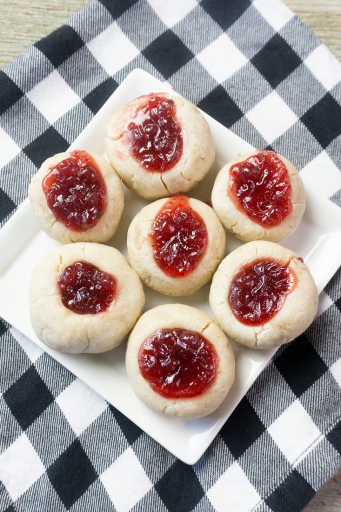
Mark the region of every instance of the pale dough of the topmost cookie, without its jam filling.
<instances>
[{"instance_id":1,"label":"pale dough of the topmost cookie, without its jam filling","mask_svg":"<svg viewBox=\"0 0 341 512\"><path fill-rule=\"evenodd\" d=\"M107 125L106 154L123 183L145 199L155 200L186 193L205 178L215 159L216 149L209 126L190 101L168 93L153 96L172 99L176 118L181 126L183 152L179 161L163 172L145 169L130 152L124 131L127 125L150 97L140 96L116 112Z\"/></svg>"}]
</instances>

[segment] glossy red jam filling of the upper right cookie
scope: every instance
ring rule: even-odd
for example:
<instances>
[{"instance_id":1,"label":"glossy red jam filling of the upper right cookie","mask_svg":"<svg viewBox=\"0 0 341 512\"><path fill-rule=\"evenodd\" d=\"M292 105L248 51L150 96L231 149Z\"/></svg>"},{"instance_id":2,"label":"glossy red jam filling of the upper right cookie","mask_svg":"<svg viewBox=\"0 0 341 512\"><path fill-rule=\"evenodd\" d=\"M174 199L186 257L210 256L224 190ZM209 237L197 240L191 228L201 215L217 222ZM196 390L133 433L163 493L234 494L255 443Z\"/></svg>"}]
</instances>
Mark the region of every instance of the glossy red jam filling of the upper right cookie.
<instances>
[{"instance_id":1,"label":"glossy red jam filling of the upper right cookie","mask_svg":"<svg viewBox=\"0 0 341 512\"><path fill-rule=\"evenodd\" d=\"M232 165L228 196L253 222L271 227L292 210L288 170L272 151L261 151Z\"/></svg>"}]
</instances>

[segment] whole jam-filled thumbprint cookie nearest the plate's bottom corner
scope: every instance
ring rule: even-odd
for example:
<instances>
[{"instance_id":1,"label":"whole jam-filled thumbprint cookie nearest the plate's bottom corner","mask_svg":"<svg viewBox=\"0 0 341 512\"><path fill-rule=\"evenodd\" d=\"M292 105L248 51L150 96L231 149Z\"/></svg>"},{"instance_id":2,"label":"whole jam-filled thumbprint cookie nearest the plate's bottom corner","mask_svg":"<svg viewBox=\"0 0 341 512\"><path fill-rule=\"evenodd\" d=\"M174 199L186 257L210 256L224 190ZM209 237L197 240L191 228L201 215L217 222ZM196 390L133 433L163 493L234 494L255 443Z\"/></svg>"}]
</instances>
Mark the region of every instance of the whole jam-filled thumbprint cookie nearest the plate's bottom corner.
<instances>
[{"instance_id":1,"label":"whole jam-filled thumbprint cookie nearest the plate's bottom corner","mask_svg":"<svg viewBox=\"0 0 341 512\"><path fill-rule=\"evenodd\" d=\"M206 313L181 304L158 306L141 316L125 363L138 398L168 416L210 414L235 378L235 357L221 328Z\"/></svg>"}]
</instances>

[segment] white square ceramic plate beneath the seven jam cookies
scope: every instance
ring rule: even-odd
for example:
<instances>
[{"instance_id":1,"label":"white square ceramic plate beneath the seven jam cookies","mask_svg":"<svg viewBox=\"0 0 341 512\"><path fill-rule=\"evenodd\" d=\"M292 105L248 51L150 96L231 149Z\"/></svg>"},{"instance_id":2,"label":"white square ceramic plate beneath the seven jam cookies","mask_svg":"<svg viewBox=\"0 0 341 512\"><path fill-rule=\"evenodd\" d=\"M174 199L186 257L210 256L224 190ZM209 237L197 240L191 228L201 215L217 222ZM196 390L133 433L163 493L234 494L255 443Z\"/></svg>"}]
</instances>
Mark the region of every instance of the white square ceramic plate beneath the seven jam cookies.
<instances>
[{"instance_id":1,"label":"white square ceramic plate beneath the seven jam cookies","mask_svg":"<svg viewBox=\"0 0 341 512\"><path fill-rule=\"evenodd\" d=\"M106 122L113 112L137 96L158 91L172 89L144 71L133 71L106 101L71 148L104 155ZM190 196L203 201L210 198L218 170L232 158L252 149L247 142L211 117L205 115L205 118L212 131L217 156L209 175L193 192L190 192ZM290 155L287 157L290 158ZM308 184L306 192L307 209L304 218L296 232L283 241L283 245L304 258L314 276L318 291L321 291L341 261L341 209L330 201L310 193ZM125 189L122 221L117 233L109 242L125 255L127 228L133 217L146 204L147 201ZM187 464L194 464L268 364L275 350L253 350L234 344L236 382L217 411L197 420L163 417L145 407L134 395L125 372L125 343L103 354L72 355L49 349L35 336L28 308L30 275L41 255L55 245L57 242L39 229L28 200L24 201L0 231L0 315L112 403L169 452ZM235 237L227 236L227 252L239 245L241 242ZM209 285L206 285L190 297L172 298L145 287L145 308L181 302L211 314L207 300L208 290Z\"/></svg>"}]
</instances>

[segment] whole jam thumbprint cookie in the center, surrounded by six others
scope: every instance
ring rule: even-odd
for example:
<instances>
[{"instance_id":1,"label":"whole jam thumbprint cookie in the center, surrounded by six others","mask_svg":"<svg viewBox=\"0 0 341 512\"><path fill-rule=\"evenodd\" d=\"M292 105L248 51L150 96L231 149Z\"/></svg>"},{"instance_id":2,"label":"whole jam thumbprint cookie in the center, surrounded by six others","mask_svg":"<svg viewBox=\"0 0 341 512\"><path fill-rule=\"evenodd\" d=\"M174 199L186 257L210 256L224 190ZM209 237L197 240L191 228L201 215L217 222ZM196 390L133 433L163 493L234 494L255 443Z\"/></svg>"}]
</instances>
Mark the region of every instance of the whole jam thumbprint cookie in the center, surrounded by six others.
<instances>
[{"instance_id":1,"label":"whole jam thumbprint cookie in the center, surrounded by six others","mask_svg":"<svg viewBox=\"0 0 341 512\"><path fill-rule=\"evenodd\" d=\"M190 295L207 283L225 252L214 210L187 196L159 199L133 219L129 260L142 281L165 295Z\"/></svg>"}]
</instances>

